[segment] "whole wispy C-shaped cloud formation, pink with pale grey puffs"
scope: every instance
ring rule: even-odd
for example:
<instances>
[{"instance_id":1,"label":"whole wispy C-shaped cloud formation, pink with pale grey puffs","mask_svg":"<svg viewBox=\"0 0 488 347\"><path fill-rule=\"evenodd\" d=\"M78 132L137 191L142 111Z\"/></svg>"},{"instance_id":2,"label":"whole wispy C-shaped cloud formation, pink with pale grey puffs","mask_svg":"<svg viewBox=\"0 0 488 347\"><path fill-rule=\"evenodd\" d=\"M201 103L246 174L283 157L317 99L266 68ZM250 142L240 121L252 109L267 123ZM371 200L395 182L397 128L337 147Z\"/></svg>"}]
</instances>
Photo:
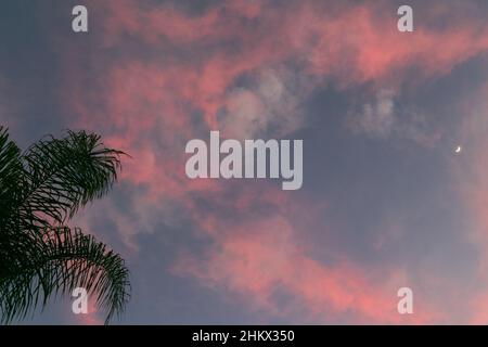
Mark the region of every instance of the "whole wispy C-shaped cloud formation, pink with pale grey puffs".
<instances>
[{"instance_id":1,"label":"whole wispy C-shaped cloud formation, pink with pale grey puffs","mask_svg":"<svg viewBox=\"0 0 488 347\"><path fill-rule=\"evenodd\" d=\"M387 1L232 1L196 13L176 3L89 4L104 14L102 33L91 37L89 63L75 54L76 41L60 41L72 52L62 54L60 94L74 115L72 126L102 132L108 145L134 158L125 162L123 184L133 189L136 217L114 201L103 206L129 248L137 253L137 236L157 232L157 222L178 210L192 235L209 244L174 260L179 275L278 317L300 312L309 322L404 322L395 311L401 282L396 273L403 269L370 269L336 256L330 262L317 259L301 247L313 240L290 217L297 205L290 196L271 182L243 188L189 181L184 143L213 129L236 138L306 130L310 121L303 103L330 85L341 92L364 88L372 95L348 99L350 119L344 115L344 120L357 133L434 146L440 132L425 125L427 115L402 108L397 100L406 86L447 76L486 52L486 18L460 15L441 29L418 21L407 37L397 31L396 10ZM436 3L425 21L447 7ZM484 159L483 152L478 155ZM483 222L486 184L479 180L472 196ZM314 204L300 196L299 210L305 216ZM445 319L442 308L426 301L406 319L409 323Z\"/></svg>"}]
</instances>

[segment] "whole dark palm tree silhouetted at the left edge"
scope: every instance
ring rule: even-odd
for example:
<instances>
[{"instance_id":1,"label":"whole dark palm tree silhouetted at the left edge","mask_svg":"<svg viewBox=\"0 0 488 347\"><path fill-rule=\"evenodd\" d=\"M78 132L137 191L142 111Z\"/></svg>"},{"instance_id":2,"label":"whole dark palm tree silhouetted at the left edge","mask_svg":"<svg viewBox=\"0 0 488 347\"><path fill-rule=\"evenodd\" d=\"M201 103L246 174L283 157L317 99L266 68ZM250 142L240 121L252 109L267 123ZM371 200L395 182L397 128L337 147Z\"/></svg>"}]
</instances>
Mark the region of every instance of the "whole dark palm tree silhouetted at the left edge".
<instances>
[{"instance_id":1,"label":"whole dark palm tree silhouetted at the left edge","mask_svg":"<svg viewBox=\"0 0 488 347\"><path fill-rule=\"evenodd\" d=\"M57 294L84 287L97 295L107 323L130 295L124 259L79 229L75 213L105 195L120 169L120 151L101 138L68 131L21 153L0 126L0 322L24 319Z\"/></svg>"}]
</instances>

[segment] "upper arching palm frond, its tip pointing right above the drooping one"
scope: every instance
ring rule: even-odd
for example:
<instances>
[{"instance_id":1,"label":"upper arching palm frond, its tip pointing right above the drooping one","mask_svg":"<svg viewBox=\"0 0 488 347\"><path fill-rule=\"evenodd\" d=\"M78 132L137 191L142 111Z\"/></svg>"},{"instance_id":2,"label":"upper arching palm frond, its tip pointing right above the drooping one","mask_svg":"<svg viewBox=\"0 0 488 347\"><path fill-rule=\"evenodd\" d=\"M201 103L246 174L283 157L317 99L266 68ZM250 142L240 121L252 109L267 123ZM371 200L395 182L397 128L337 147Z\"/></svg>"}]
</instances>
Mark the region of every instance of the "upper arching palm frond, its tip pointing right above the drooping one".
<instances>
[{"instance_id":1,"label":"upper arching palm frond, its tip pointing right above the drooping one","mask_svg":"<svg viewBox=\"0 0 488 347\"><path fill-rule=\"evenodd\" d=\"M64 139L48 137L24 154L28 190L20 210L35 226L49 219L64 223L89 202L106 194L117 180L120 155L100 136L68 131Z\"/></svg>"}]
</instances>

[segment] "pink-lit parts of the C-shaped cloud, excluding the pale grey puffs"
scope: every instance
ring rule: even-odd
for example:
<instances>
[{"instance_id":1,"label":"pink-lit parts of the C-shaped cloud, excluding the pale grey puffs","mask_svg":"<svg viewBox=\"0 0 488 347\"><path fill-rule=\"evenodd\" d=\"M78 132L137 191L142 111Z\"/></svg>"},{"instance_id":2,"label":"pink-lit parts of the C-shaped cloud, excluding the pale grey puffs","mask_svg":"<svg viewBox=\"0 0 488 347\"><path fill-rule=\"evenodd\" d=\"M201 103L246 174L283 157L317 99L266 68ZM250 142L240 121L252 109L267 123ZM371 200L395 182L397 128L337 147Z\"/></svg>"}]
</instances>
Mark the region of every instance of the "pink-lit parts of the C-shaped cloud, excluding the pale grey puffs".
<instances>
[{"instance_id":1,"label":"pink-lit parts of the C-shaped cloud, excluding the pale grey puffs","mask_svg":"<svg viewBox=\"0 0 488 347\"><path fill-rule=\"evenodd\" d=\"M247 113L272 110L278 117L283 114L270 107L269 99L261 98L256 88L240 90L236 85L242 77L256 80L270 69L285 69L284 75L296 76L287 73L299 69L299 75L307 76L305 92L299 95L303 99L323 80L333 80L341 88L373 82L397 90L402 83L415 83L409 81L412 66L419 70L416 77L432 78L486 51L488 25L481 20L473 23L459 18L442 31L419 24L415 33L406 36L396 30L395 12L391 16L385 14L389 12L374 12L380 5L346 9L337 4L329 9L320 1L269 5L235 1L190 15L174 7L142 7L138 1L97 3L105 12L98 54L114 48L120 53L111 61L93 57L102 73L90 81L77 67L80 57L68 56L66 108L77 115L75 126L102 129L107 144L134 158L125 160L123 180L147 188L146 195L137 197L141 210L162 202L180 204L189 208L188 218L200 227L198 231L210 237L214 247L209 253L202 259L178 259L177 273L251 295L251 305L275 314L286 313L286 308L274 301L277 292L283 290L293 297L290 307L306 311L310 320L328 321L352 313L358 322L406 322L395 311L394 285L375 284L382 279L377 273L385 269L370 271L344 260L322 264L298 246L306 243L306 233L296 231L283 217L294 205L287 195L277 193L275 187L256 183L235 202L223 203L254 222L222 222L218 210L198 207L192 194L219 204L222 193L232 188L222 181L188 180L184 143L234 121L237 108L246 113L239 119L242 127L247 120L258 120L262 125L258 130L268 123L247 117ZM147 55L125 48L127 37L141 44ZM94 90L88 86L94 86ZM286 79L283 86L288 86ZM255 102L251 111L240 108L239 90L247 104ZM230 112L221 120L218 115L226 107ZM298 114L294 107L285 111ZM294 124L283 136L303 126L306 121ZM483 206L484 197L478 200L477 206ZM256 201L272 207L275 214L258 218L253 209ZM304 202L307 208L311 205ZM479 213L484 214L486 209ZM132 236L134 231L130 230L136 226L116 213L114 218L125 236ZM440 313L425 309L407 322L431 322L436 314Z\"/></svg>"}]
</instances>

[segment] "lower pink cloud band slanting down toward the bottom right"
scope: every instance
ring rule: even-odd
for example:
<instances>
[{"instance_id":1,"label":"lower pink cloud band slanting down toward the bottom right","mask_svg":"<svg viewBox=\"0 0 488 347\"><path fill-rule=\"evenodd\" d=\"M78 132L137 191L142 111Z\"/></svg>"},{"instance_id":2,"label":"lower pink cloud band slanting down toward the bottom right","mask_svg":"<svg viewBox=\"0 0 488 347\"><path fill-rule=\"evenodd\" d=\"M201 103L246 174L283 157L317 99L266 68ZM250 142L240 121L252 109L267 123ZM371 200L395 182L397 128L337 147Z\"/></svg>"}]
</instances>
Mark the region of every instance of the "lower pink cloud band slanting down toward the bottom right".
<instances>
[{"instance_id":1,"label":"lower pink cloud band slanting down toward the bottom right","mask_svg":"<svg viewBox=\"0 0 488 347\"><path fill-rule=\"evenodd\" d=\"M214 232L229 228L216 219L204 224ZM426 303L416 304L421 309L412 317L398 314L398 283L378 284L391 281L388 271L378 275L343 261L324 265L298 246L297 236L281 217L240 224L231 234L214 234L215 246L204 259L183 255L174 271L236 293L256 311L301 312L296 323L333 322L347 314L356 323L418 324L438 318ZM283 304L280 294L291 303Z\"/></svg>"}]
</instances>

